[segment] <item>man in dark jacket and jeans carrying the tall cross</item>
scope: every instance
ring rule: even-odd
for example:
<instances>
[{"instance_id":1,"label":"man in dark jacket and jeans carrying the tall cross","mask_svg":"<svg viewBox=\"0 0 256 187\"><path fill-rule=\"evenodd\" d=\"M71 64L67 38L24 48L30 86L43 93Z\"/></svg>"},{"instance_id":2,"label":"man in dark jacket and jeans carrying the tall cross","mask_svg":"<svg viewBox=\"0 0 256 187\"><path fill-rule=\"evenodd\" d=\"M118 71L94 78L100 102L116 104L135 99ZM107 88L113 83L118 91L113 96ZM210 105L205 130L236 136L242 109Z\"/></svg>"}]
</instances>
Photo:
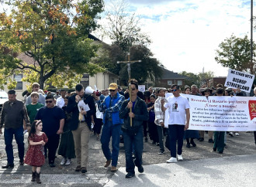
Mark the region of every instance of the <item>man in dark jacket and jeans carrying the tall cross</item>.
<instances>
[{"instance_id":1,"label":"man in dark jacket and jeans carrying the tall cross","mask_svg":"<svg viewBox=\"0 0 256 187\"><path fill-rule=\"evenodd\" d=\"M147 105L144 100L137 96L137 80L130 80L131 98L125 100L122 104L119 117L124 119L122 125L124 148L126 153L126 178L135 176L135 165L138 172L144 172L142 166L143 152L143 121L149 118ZM132 111L130 111L132 110ZM130 124L132 119L132 125ZM133 161L133 147L135 160Z\"/></svg>"}]
</instances>

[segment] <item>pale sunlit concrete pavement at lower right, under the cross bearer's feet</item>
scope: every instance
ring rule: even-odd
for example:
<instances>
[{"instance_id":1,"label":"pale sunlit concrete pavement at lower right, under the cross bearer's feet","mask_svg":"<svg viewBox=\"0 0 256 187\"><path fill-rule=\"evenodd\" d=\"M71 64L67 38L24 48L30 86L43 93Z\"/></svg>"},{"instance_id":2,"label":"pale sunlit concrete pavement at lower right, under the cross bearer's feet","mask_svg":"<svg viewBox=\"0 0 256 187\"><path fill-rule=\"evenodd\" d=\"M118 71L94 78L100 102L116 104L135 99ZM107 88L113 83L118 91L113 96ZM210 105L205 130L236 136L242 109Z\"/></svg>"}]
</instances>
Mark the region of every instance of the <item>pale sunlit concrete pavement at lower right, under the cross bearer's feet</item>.
<instances>
[{"instance_id":1,"label":"pale sunlit concrete pavement at lower right, under the cross bearer's feet","mask_svg":"<svg viewBox=\"0 0 256 187\"><path fill-rule=\"evenodd\" d=\"M256 155L223 158L207 158L145 165L144 173L137 172L125 179L125 168L119 171L105 186L256 186Z\"/></svg>"}]
</instances>

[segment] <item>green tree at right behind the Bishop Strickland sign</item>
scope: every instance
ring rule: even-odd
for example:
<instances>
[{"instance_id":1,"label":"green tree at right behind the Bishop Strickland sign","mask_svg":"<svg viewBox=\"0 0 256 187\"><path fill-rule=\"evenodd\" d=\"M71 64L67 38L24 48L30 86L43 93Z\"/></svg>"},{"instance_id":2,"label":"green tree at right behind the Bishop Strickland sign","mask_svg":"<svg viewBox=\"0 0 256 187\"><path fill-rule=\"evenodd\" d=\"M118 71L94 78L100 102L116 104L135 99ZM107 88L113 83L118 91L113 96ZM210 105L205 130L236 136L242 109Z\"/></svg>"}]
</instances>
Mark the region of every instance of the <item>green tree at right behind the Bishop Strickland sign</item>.
<instances>
[{"instance_id":1,"label":"green tree at right behind the Bishop Strickland sign","mask_svg":"<svg viewBox=\"0 0 256 187\"><path fill-rule=\"evenodd\" d=\"M254 49L255 44L253 43L253 53ZM247 36L238 38L232 35L230 38L224 39L220 43L219 49L216 49L215 60L232 70L255 72L255 59L251 64L251 42Z\"/></svg>"}]
</instances>

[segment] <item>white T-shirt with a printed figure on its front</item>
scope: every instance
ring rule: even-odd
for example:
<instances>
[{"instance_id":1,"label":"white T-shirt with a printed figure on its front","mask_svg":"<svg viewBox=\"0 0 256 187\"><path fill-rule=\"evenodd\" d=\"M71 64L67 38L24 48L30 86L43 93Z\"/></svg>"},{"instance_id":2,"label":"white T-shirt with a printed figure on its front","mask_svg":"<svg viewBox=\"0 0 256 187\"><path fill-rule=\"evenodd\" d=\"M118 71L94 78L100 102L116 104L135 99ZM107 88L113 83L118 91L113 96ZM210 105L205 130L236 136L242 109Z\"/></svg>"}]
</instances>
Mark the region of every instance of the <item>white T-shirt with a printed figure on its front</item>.
<instances>
[{"instance_id":1,"label":"white T-shirt with a printed figure on its front","mask_svg":"<svg viewBox=\"0 0 256 187\"><path fill-rule=\"evenodd\" d=\"M165 103L164 107L168 108L168 124L185 125L185 109L190 108L188 99L183 96L171 96L167 100L168 103Z\"/></svg>"}]
</instances>

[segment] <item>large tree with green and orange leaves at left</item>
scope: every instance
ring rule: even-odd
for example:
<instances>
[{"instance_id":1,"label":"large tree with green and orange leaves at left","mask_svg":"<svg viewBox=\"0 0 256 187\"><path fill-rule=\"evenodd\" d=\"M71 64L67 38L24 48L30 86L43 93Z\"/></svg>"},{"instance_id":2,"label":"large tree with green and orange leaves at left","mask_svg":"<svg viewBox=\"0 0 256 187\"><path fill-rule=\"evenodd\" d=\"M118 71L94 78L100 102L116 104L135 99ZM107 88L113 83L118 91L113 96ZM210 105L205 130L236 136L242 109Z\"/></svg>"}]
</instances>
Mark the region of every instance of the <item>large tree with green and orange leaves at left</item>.
<instances>
[{"instance_id":1,"label":"large tree with green and orange leaves at left","mask_svg":"<svg viewBox=\"0 0 256 187\"><path fill-rule=\"evenodd\" d=\"M98 26L102 0L10 0L8 5L11 13L0 13L0 84L22 71L41 89L47 81L71 86L75 75L102 70L89 63L98 47L88 39ZM33 63L17 58L21 53Z\"/></svg>"}]
</instances>

